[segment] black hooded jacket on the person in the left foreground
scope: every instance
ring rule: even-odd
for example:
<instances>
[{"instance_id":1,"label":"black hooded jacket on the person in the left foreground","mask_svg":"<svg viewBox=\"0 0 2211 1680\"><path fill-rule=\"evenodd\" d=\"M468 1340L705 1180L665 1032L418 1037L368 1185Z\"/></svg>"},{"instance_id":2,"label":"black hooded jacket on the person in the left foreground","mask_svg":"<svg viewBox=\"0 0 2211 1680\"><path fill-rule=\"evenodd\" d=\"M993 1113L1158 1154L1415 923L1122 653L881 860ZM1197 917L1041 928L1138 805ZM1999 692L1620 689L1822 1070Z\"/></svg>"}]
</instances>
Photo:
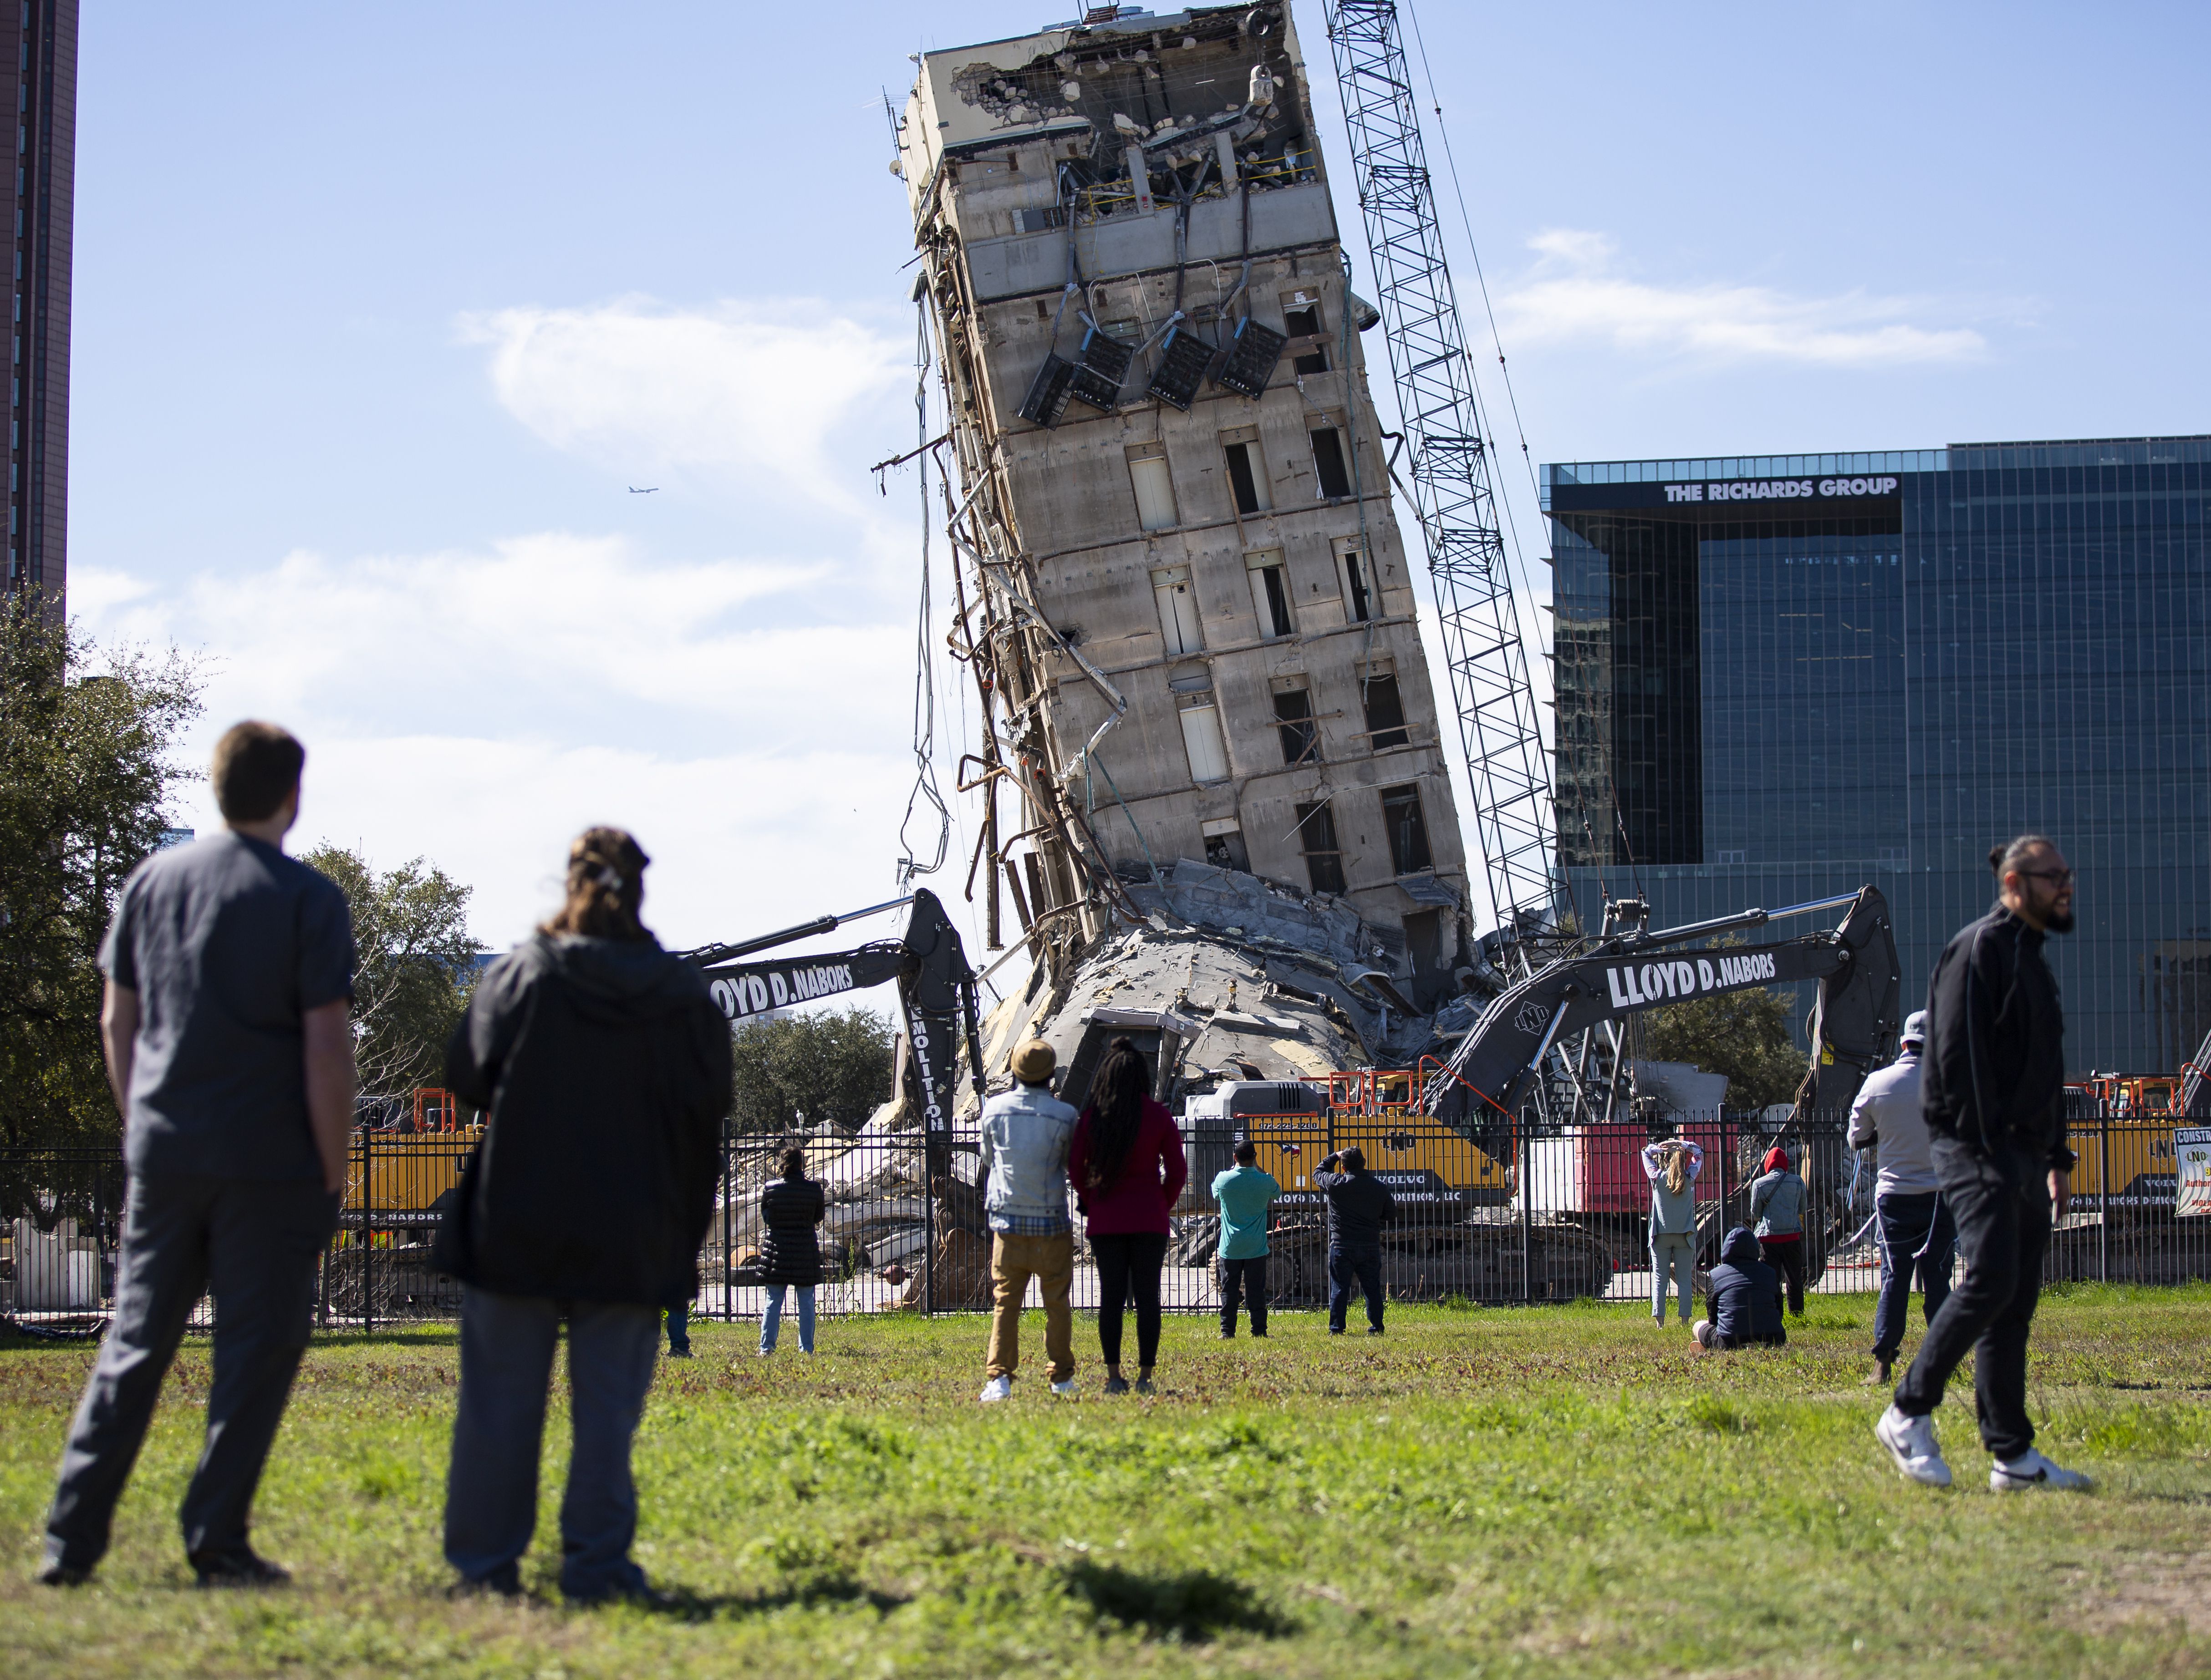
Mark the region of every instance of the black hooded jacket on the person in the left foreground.
<instances>
[{"instance_id":1,"label":"black hooded jacket on the person in the left foreground","mask_svg":"<svg viewBox=\"0 0 2211 1680\"><path fill-rule=\"evenodd\" d=\"M535 933L495 962L444 1052L491 1112L436 1260L502 1295L666 1306L699 1289L730 1023L654 942Z\"/></svg>"}]
</instances>

